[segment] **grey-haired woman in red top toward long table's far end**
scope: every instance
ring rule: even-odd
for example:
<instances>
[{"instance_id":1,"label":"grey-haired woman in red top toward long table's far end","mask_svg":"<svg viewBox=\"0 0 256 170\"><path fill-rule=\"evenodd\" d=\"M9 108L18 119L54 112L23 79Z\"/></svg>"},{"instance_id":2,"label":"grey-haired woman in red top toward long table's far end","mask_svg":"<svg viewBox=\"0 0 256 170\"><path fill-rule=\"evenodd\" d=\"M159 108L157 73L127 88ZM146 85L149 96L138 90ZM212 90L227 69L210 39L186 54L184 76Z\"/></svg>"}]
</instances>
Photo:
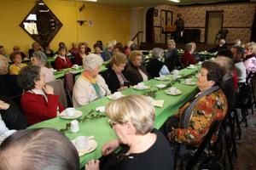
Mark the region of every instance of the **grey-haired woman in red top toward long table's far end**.
<instances>
[{"instance_id":1,"label":"grey-haired woman in red top toward long table's far end","mask_svg":"<svg viewBox=\"0 0 256 170\"><path fill-rule=\"evenodd\" d=\"M193 50L194 50L193 43L190 42L185 45L185 51L181 58L183 67L187 67L191 64L195 65L196 60L195 60L195 57L192 55L194 53Z\"/></svg>"}]
</instances>

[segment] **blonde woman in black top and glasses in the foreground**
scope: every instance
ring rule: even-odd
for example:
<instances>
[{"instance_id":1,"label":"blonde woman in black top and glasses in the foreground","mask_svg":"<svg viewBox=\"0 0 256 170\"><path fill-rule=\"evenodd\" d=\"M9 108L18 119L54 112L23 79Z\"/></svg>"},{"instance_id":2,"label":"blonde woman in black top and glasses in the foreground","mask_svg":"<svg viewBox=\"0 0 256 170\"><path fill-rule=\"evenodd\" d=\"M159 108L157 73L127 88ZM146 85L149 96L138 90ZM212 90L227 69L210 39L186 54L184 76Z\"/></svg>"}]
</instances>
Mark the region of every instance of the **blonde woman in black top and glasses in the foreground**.
<instances>
[{"instance_id":1,"label":"blonde woman in black top and glasses in the foreground","mask_svg":"<svg viewBox=\"0 0 256 170\"><path fill-rule=\"evenodd\" d=\"M102 146L107 156L120 144L129 146L124 156L109 169L172 170L172 148L165 136L154 129L154 106L143 95L129 95L107 105L109 124L118 139ZM160 154L159 154L160 153ZM86 170L100 169L99 161L89 161Z\"/></svg>"}]
</instances>

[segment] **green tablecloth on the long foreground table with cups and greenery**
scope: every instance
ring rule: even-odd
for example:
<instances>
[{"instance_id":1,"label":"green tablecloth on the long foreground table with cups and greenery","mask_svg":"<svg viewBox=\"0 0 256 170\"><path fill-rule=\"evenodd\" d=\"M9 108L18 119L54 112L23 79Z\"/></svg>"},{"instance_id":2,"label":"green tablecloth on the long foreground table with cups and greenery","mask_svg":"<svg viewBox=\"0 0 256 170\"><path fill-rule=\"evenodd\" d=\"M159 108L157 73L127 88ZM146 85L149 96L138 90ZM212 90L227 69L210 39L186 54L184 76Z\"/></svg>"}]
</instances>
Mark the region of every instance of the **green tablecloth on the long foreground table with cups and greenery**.
<instances>
[{"instance_id":1,"label":"green tablecloth on the long foreground table with cups and greenery","mask_svg":"<svg viewBox=\"0 0 256 170\"><path fill-rule=\"evenodd\" d=\"M190 74L194 74L197 69L189 70L189 69L183 69L181 71L181 74L183 77L188 76ZM171 77L169 75L168 77ZM195 80L195 77L193 77ZM155 88L156 84L167 84L168 82L162 82L157 80L149 80L148 82L145 82L145 84L150 85L151 88ZM166 119L169 116L175 115L177 113L178 108L183 105L186 101L191 99L195 94L198 92L198 89L196 86L188 86L183 85L182 83L176 82L174 87L179 88L182 91L181 95L178 96L171 96L164 93L164 90L159 90L156 94L155 99L164 99L165 103L162 108L156 108L156 116L155 116L155 123L154 127L160 128L164 122L166 122ZM125 95L128 94L142 94L143 91L138 91L133 88L128 88L125 91L122 92ZM87 114L91 109L95 110L96 107L107 105L110 100L105 97L102 99L97 99L96 101L90 103L89 105L84 105L80 108L78 108L79 111L83 112L84 114ZM102 114L102 113L99 113ZM35 128L35 127L53 127L55 129L60 130L61 128L65 128L66 124L70 122L68 120L63 120L60 117L55 117L54 119L50 119L48 121L39 122L38 124L35 124L28 128ZM85 136L95 136L96 142L98 144L95 151L91 152L90 154L86 154L84 156L80 157L80 167L83 167L84 164L89 161L90 159L97 159L102 156L102 144L105 144L106 142L116 139L116 135L113 133L113 129L109 127L108 125L108 118L100 118L97 120L90 120L87 122L79 123L79 133L72 133L70 130L65 133L65 135L69 139L75 139L78 136L85 135Z\"/></svg>"}]
</instances>

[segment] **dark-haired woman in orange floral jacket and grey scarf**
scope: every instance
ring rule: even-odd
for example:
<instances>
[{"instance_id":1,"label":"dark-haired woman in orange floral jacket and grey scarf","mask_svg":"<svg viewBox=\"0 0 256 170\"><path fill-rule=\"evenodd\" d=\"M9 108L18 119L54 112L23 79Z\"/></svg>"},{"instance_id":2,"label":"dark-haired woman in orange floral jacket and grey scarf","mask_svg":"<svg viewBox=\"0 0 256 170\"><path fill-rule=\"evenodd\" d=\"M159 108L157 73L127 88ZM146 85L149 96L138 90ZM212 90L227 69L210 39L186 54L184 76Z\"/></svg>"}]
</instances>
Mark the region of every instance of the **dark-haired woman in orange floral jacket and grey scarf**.
<instances>
[{"instance_id":1,"label":"dark-haired woman in orange floral jacket and grey scarf","mask_svg":"<svg viewBox=\"0 0 256 170\"><path fill-rule=\"evenodd\" d=\"M212 122L222 121L228 102L219 88L223 72L218 64L206 61L201 65L197 86L201 93L179 109L166 122L168 138L185 146L197 147L206 136Z\"/></svg>"}]
</instances>

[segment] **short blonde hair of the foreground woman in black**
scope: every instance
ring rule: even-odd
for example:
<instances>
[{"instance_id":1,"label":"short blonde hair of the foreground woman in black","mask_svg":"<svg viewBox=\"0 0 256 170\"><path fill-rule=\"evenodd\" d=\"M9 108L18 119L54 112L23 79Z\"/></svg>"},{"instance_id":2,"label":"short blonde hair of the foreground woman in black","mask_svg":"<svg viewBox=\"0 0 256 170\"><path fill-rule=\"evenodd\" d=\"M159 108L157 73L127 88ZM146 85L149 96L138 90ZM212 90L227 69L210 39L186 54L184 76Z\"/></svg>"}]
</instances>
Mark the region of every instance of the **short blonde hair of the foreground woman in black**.
<instances>
[{"instance_id":1,"label":"short blonde hair of the foreground woman in black","mask_svg":"<svg viewBox=\"0 0 256 170\"><path fill-rule=\"evenodd\" d=\"M154 105L143 95L127 95L110 102L106 113L113 122L131 122L138 134L149 133L154 127Z\"/></svg>"}]
</instances>

